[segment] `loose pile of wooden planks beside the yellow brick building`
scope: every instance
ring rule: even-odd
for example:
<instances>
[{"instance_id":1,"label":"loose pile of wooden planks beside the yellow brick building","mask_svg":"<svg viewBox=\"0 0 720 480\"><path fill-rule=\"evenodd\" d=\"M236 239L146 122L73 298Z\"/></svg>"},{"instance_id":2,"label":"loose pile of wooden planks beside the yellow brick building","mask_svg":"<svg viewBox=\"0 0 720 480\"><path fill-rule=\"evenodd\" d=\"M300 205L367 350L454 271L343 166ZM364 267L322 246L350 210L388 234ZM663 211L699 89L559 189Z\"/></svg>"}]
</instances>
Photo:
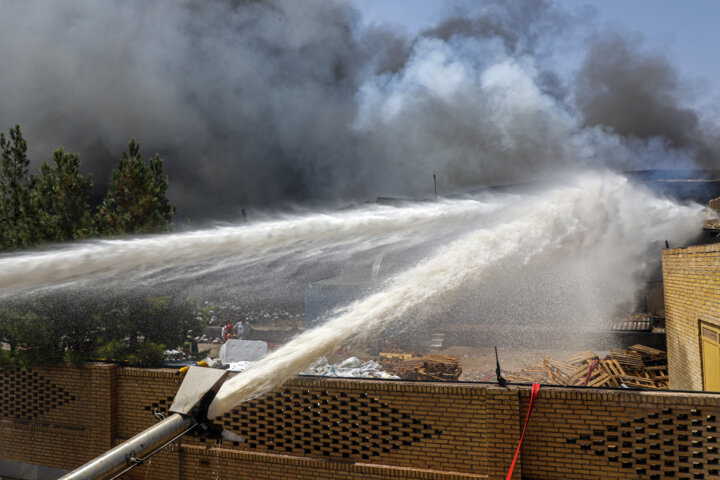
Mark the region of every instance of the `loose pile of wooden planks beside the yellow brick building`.
<instances>
[{"instance_id":1,"label":"loose pile of wooden planks beside the yellow brick building","mask_svg":"<svg viewBox=\"0 0 720 480\"><path fill-rule=\"evenodd\" d=\"M644 345L610 350L603 359L588 350L562 362L544 359L520 372L508 373L505 378L510 382L550 385L667 389L667 355Z\"/></svg>"}]
</instances>

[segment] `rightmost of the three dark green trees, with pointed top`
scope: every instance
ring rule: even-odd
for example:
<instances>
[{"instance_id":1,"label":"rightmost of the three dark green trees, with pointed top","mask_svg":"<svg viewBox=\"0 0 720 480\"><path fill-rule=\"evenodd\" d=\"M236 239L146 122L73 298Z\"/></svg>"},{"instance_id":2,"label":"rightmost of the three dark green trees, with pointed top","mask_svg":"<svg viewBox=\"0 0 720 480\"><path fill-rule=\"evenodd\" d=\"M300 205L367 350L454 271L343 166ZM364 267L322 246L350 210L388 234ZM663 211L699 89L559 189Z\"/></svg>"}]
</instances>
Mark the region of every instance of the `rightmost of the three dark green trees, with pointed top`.
<instances>
[{"instance_id":1,"label":"rightmost of the three dark green trees, with pointed top","mask_svg":"<svg viewBox=\"0 0 720 480\"><path fill-rule=\"evenodd\" d=\"M168 179L158 154L146 164L133 138L112 173L98 225L107 235L167 232L176 213L165 193Z\"/></svg>"}]
</instances>

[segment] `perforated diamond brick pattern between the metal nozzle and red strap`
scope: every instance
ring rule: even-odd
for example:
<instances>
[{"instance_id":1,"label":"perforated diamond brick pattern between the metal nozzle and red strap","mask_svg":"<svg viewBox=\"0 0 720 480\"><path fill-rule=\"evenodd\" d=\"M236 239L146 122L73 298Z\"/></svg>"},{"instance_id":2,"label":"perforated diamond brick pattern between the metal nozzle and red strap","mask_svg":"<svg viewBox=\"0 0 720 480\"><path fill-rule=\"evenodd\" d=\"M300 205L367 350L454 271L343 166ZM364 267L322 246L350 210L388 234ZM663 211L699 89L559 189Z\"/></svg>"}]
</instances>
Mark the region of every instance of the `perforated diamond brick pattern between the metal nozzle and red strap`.
<instances>
[{"instance_id":1,"label":"perforated diamond brick pattern between the metal nozzle and red strap","mask_svg":"<svg viewBox=\"0 0 720 480\"><path fill-rule=\"evenodd\" d=\"M250 449L369 460L441 432L367 393L283 391L226 413Z\"/></svg>"}]
</instances>

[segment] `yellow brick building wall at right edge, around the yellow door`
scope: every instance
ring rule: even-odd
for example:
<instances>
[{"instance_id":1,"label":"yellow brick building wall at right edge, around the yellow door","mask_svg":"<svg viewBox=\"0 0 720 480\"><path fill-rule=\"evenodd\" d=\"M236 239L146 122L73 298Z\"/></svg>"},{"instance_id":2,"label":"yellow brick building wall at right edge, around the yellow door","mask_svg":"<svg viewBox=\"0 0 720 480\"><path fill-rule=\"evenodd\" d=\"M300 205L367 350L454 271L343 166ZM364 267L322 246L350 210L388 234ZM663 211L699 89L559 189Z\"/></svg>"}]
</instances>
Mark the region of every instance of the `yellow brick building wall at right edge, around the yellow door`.
<instances>
[{"instance_id":1,"label":"yellow brick building wall at right edge, around the yellow door","mask_svg":"<svg viewBox=\"0 0 720 480\"><path fill-rule=\"evenodd\" d=\"M664 250L670 388L702 390L700 320L720 325L720 244Z\"/></svg>"}]
</instances>

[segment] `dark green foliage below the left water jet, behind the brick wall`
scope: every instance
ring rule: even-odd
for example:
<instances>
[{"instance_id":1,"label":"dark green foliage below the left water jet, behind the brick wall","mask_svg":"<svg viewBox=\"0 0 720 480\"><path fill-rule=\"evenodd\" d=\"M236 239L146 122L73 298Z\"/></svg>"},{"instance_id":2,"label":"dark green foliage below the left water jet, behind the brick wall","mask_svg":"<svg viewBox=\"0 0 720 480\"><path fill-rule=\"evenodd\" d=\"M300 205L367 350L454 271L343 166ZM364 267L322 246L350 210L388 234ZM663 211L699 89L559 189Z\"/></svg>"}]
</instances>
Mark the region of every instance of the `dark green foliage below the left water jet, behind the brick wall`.
<instances>
[{"instance_id":1,"label":"dark green foliage below the left water jet, behind the brick wall","mask_svg":"<svg viewBox=\"0 0 720 480\"><path fill-rule=\"evenodd\" d=\"M165 348L199 335L196 302L172 293L55 292L0 305L0 365L115 360L157 366Z\"/></svg>"}]
</instances>

